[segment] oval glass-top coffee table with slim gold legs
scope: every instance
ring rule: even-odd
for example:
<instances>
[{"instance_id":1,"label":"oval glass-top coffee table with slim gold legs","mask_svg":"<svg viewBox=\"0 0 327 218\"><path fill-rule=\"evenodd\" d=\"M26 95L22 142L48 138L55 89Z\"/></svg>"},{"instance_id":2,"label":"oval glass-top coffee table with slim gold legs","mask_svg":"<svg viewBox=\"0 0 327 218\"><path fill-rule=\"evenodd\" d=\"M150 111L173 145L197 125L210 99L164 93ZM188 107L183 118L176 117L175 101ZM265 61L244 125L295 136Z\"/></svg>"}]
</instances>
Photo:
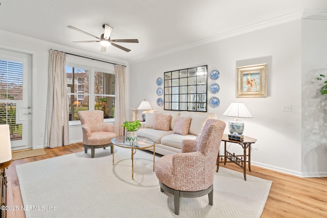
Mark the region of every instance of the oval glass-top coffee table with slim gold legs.
<instances>
[{"instance_id":1,"label":"oval glass-top coffee table with slim gold legs","mask_svg":"<svg viewBox=\"0 0 327 218\"><path fill-rule=\"evenodd\" d=\"M114 146L121 148L131 149L132 151L132 179L134 179L134 154L137 150L153 151L153 172L154 172L154 159L155 159L155 143L149 139L137 137L136 142L129 142L125 140L125 136L117 136L111 139L112 150ZM113 150L114 151L114 150ZM112 165L114 165L114 152L112 152Z\"/></svg>"}]
</instances>

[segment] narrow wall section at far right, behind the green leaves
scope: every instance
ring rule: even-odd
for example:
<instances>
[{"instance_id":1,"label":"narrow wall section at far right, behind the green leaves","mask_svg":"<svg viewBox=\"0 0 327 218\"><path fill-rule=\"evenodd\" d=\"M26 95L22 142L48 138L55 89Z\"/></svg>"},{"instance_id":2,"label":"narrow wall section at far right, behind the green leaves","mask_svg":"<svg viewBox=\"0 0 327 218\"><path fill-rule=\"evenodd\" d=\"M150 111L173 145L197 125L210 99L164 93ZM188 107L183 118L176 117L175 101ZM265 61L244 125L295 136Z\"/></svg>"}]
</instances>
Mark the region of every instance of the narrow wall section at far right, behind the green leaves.
<instances>
[{"instance_id":1,"label":"narrow wall section at far right, behind the green leaves","mask_svg":"<svg viewBox=\"0 0 327 218\"><path fill-rule=\"evenodd\" d=\"M327 76L327 20L302 20L302 172L327 175L327 96L320 95ZM325 79L327 80L327 78ZM325 81L324 80L324 81Z\"/></svg>"}]
</instances>

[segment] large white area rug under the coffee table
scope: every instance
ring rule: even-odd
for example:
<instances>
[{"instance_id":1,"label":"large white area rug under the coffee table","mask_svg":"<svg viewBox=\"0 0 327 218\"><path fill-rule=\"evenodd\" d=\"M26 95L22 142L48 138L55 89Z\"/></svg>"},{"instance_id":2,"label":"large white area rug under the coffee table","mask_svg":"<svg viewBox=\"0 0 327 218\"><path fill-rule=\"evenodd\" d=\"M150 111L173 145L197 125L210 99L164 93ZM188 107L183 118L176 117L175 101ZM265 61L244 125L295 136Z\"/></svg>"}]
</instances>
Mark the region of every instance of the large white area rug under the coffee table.
<instances>
[{"instance_id":1,"label":"large white area rug under the coffee table","mask_svg":"<svg viewBox=\"0 0 327 218\"><path fill-rule=\"evenodd\" d=\"M215 173L214 205L208 197L181 198L180 215L174 198L160 192L152 171L151 153L134 155L115 147L25 163L16 166L26 217L260 217L271 181L220 167ZM158 157L156 157L158 159Z\"/></svg>"}]
</instances>

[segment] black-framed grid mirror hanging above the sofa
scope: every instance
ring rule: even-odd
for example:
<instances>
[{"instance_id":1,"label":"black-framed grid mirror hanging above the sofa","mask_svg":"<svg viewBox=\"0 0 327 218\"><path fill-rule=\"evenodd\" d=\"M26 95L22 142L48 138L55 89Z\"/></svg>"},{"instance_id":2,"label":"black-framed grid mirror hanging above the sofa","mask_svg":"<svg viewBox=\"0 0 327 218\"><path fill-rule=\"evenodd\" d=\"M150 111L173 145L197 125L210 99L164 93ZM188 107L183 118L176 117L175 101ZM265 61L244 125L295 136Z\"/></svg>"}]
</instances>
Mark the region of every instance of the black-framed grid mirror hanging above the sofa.
<instances>
[{"instance_id":1,"label":"black-framed grid mirror hanging above the sofa","mask_svg":"<svg viewBox=\"0 0 327 218\"><path fill-rule=\"evenodd\" d=\"M207 111L207 65L164 73L165 110Z\"/></svg>"}]
</instances>

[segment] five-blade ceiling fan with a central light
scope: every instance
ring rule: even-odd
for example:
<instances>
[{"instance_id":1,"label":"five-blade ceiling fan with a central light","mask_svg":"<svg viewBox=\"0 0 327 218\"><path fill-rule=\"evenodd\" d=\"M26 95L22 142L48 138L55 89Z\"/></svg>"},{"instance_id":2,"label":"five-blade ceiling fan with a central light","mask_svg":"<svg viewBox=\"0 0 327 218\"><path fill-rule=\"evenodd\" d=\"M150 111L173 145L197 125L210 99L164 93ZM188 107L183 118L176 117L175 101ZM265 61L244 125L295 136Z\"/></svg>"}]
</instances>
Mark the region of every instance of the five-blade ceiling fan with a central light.
<instances>
[{"instance_id":1,"label":"five-blade ceiling fan with a central light","mask_svg":"<svg viewBox=\"0 0 327 218\"><path fill-rule=\"evenodd\" d=\"M109 45L113 45L115 47L118 47L121 50L124 50L125 52L130 52L130 49L127 49L126 47L123 47L121 45L118 45L116 43L113 42L131 42L131 43L138 43L138 39L110 39L110 34L113 30L112 27L110 27L109 25L102 25L102 27L104 28L104 33L101 34L101 37L99 38L98 36L92 35L90 33L84 32L83 30L77 29L76 27L73 26L67 26L68 28L71 28L73 30L76 30L78 32L84 33L86 35L92 36L94 38L97 38L99 40L94 40L94 41L73 41L74 43L87 43L87 42L100 42L101 46L101 52L106 52L107 50L107 46Z\"/></svg>"}]
</instances>

